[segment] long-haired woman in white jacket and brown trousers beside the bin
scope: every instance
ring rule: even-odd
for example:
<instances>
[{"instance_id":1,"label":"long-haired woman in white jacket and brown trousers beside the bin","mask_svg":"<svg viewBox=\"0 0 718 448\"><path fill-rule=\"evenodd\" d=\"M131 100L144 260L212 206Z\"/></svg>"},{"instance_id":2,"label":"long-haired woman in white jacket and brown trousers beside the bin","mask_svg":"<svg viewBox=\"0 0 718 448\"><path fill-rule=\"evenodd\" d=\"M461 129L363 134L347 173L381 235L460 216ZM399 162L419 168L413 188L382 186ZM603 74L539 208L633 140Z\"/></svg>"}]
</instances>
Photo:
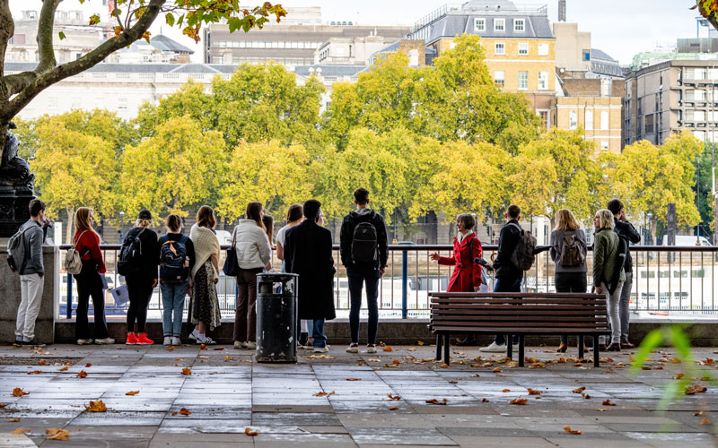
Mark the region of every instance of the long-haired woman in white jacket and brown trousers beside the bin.
<instances>
[{"instance_id":1,"label":"long-haired woman in white jacket and brown trousers beside the bin","mask_svg":"<svg viewBox=\"0 0 718 448\"><path fill-rule=\"evenodd\" d=\"M247 204L245 219L232 233L240 271L237 274L237 308L234 311L234 348L257 349L257 274L271 267L272 246L265 231L261 202Z\"/></svg>"}]
</instances>

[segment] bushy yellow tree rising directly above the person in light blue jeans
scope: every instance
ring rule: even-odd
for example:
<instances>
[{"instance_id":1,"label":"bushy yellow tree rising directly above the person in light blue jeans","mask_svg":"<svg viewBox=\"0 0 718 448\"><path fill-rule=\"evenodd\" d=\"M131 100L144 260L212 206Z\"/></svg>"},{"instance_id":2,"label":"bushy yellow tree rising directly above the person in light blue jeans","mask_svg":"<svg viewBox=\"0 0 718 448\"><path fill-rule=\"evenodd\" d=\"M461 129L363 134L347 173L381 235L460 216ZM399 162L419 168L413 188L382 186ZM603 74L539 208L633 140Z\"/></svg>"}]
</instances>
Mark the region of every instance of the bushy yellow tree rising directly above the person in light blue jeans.
<instances>
[{"instance_id":1,"label":"bushy yellow tree rising directly above the person in light blue jeans","mask_svg":"<svg viewBox=\"0 0 718 448\"><path fill-rule=\"evenodd\" d=\"M187 207L215 204L227 155L222 134L203 132L188 116L171 118L152 137L127 146L119 179L121 210L187 216Z\"/></svg>"}]
</instances>

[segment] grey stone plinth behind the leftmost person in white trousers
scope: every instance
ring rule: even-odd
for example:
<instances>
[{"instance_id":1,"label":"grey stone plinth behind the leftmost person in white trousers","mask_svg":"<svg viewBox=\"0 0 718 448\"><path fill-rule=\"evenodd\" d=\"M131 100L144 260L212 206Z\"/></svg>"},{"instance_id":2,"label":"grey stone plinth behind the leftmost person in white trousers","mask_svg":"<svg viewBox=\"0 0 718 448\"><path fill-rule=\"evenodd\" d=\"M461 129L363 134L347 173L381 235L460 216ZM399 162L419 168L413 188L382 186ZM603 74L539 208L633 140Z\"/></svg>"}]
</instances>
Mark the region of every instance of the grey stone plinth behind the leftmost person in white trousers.
<instances>
[{"instance_id":1,"label":"grey stone plinth behind the leftmost person in white trousers","mask_svg":"<svg viewBox=\"0 0 718 448\"><path fill-rule=\"evenodd\" d=\"M51 344L55 340L55 314L57 310L56 292L59 292L60 251L57 246L43 246L45 263L45 286L42 292L42 305L39 308L35 324L35 340ZM20 306L20 276L10 271L7 265L7 242L0 245L0 344L15 340L15 318Z\"/></svg>"}]
</instances>

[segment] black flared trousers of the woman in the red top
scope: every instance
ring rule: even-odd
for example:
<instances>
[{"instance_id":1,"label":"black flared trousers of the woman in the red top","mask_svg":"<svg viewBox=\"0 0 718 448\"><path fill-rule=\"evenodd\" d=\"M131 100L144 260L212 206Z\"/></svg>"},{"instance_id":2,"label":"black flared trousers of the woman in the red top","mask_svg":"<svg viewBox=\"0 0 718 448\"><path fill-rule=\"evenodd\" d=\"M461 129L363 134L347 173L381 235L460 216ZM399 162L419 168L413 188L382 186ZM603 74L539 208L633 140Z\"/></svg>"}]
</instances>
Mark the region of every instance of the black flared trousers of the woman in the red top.
<instances>
[{"instance_id":1,"label":"black flared trousers of the woman in the red top","mask_svg":"<svg viewBox=\"0 0 718 448\"><path fill-rule=\"evenodd\" d=\"M97 271L97 263L83 260L83 270L74 276L77 281L77 311L74 323L74 339L90 339L90 323L87 311L92 296L92 309L95 312L94 339L109 336L105 321L105 297L102 291L102 278Z\"/></svg>"}]
</instances>

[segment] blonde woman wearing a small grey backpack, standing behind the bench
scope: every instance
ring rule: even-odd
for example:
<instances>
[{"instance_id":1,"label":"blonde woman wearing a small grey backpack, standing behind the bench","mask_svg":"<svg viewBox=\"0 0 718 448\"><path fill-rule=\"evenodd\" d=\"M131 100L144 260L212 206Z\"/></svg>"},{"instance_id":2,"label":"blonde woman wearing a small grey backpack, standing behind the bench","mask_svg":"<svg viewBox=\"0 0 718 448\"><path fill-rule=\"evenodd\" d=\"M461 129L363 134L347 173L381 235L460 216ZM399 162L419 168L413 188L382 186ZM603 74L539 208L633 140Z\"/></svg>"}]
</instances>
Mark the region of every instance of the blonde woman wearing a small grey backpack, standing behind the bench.
<instances>
[{"instance_id":1,"label":"blonde woman wearing a small grey backpack, standing behind the bench","mask_svg":"<svg viewBox=\"0 0 718 448\"><path fill-rule=\"evenodd\" d=\"M586 234L570 210L556 212L556 228L551 232L549 246L551 260L556 263L556 292L586 292ZM565 353L567 341L562 334L556 352Z\"/></svg>"}]
</instances>

